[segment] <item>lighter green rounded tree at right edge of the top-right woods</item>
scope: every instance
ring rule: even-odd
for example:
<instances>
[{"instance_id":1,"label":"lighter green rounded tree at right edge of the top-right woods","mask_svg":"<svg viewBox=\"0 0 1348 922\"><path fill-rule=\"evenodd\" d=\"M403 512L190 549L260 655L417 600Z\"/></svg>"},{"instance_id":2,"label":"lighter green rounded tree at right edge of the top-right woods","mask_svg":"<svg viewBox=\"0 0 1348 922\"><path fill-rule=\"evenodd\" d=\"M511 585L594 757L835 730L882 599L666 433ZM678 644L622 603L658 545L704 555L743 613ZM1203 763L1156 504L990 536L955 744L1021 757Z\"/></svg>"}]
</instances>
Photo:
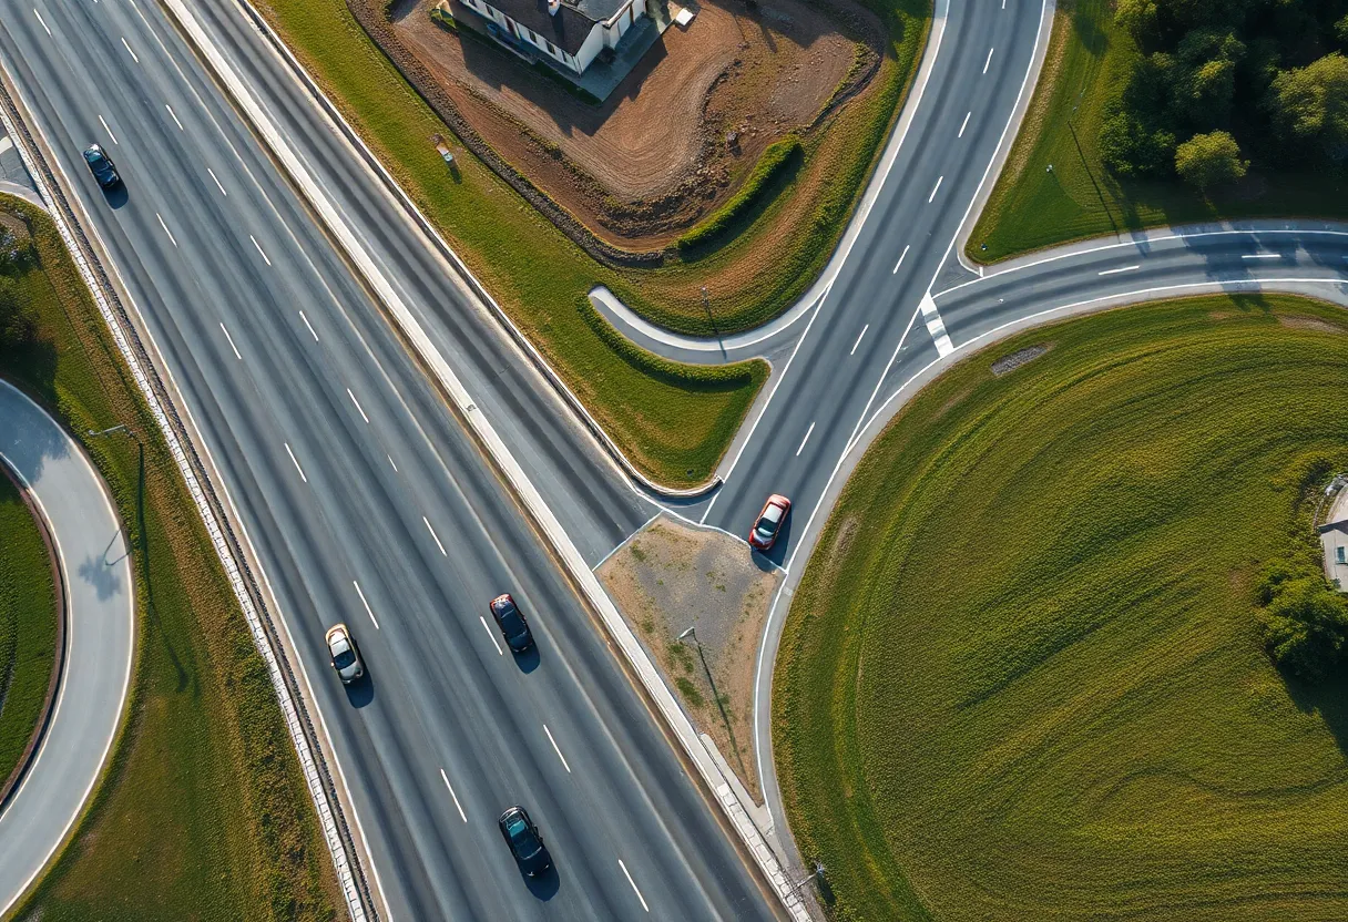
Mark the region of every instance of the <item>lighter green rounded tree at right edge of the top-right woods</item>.
<instances>
[{"instance_id":1,"label":"lighter green rounded tree at right edge of the top-right woods","mask_svg":"<svg viewBox=\"0 0 1348 922\"><path fill-rule=\"evenodd\" d=\"M1279 73L1268 109L1285 147L1313 144L1339 163L1348 155L1348 58L1335 51Z\"/></svg>"}]
</instances>

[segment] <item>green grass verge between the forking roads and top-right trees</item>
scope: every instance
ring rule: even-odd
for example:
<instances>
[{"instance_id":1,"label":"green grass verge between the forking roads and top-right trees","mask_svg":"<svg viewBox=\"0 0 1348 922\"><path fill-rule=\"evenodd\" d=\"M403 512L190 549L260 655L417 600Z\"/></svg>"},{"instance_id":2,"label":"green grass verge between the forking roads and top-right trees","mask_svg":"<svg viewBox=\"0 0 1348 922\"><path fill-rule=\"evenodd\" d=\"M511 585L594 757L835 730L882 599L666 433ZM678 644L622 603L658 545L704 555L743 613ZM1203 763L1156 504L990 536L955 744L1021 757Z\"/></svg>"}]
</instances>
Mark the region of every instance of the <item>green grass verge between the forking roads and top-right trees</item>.
<instances>
[{"instance_id":1,"label":"green grass verge between the forking roads and top-right trees","mask_svg":"<svg viewBox=\"0 0 1348 922\"><path fill-rule=\"evenodd\" d=\"M971 259L1158 225L1348 216L1348 183L1325 173L1263 173L1206 198L1178 179L1115 179L1100 164L1100 123L1136 55L1132 38L1113 24L1111 0L1058 4L1043 75L969 236Z\"/></svg>"}]
</instances>

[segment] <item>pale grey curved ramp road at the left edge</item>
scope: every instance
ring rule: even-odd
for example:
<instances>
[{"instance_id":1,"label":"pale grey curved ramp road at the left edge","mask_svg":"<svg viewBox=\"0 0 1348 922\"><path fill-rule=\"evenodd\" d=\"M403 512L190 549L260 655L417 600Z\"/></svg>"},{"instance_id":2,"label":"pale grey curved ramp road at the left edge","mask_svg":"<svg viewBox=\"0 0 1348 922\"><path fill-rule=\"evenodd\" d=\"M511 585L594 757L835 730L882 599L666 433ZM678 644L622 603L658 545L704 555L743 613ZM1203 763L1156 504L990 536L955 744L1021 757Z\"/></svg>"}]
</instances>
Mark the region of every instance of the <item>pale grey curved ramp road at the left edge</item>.
<instances>
[{"instance_id":1,"label":"pale grey curved ramp road at the left edge","mask_svg":"<svg viewBox=\"0 0 1348 922\"><path fill-rule=\"evenodd\" d=\"M121 720L135 646L131 557L102 479L55 419L0 381L0 458L38 500L66 598L55 709L28 770L0 807L0 914L80 816Z\"/></svg>"}]
</instances>

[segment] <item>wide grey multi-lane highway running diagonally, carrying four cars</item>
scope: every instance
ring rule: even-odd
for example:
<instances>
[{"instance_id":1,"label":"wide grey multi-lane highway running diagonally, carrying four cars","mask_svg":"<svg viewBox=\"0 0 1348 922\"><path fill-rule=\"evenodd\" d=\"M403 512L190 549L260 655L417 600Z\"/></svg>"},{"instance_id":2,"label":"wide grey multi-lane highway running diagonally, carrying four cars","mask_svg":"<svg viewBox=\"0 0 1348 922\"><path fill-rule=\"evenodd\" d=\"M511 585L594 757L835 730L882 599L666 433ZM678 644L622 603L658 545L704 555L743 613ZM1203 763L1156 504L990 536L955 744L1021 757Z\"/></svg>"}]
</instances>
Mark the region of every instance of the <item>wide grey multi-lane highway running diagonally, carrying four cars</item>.
<instances>
[{"instance_id":1,"label":"wide grey multi-lane highway running diagonally, carrying four cars","mask_svg":"<svg viewBox=\"0 0 1348 922\"><path fill-rule=\"evenodd\" d=\"M256 549L388 915L772 918L477 443L160 9L0 9L0 58ZM197 9L585 555L648 518L237 11ZM123 191L84 170L92 142ZM483 617L504 590L534 623L532 658L503 654ZM324 650L338 620L369 665L350 690ZM512 803L542 826L554 878L530 884L514 865L495 828Z\"/></svg>"}]
</instances>

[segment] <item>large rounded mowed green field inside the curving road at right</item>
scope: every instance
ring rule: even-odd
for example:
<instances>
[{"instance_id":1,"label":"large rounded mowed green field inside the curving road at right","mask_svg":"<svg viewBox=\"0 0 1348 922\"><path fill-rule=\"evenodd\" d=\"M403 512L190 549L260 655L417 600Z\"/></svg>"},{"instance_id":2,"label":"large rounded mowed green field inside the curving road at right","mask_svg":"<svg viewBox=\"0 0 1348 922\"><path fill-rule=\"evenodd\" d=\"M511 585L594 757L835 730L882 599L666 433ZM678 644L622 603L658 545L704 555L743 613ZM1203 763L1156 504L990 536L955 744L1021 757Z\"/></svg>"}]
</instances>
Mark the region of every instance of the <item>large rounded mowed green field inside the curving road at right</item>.
<instances>
[{"instance_id":1,"label":"large rounded mowed green field inside the curving road at right","mask_svg":"<svg viewBox=\"0 0 1348 922\"><path fill-rule=\"evenodd\" d=\"M1348 918L1348 682L1285 681L1252 597L1345 407L1348 313L1282 297L1069 321L919 394L776 665L834 918Z\"/></svg>"}]
</instances>

